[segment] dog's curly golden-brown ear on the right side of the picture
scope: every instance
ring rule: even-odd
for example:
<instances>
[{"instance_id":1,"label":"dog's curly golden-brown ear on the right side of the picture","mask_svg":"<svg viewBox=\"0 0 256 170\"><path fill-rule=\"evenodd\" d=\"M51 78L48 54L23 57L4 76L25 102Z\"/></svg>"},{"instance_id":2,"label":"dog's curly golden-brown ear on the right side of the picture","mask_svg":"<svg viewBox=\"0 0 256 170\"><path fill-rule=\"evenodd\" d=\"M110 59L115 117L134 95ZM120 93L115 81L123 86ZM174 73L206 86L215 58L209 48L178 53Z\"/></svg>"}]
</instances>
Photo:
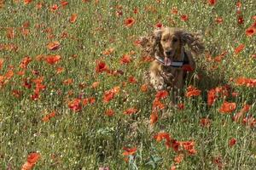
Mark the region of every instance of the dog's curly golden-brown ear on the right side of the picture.
<instances>
[{"instance_id":1,"label":"dog's curly golden-brown ear on the right side of the picture","mask_svg":"<svg viewBox=\"0 0 256 170\"><path fill-rule=\"evenodd\" d=\"M204 43L202 42L202 35L199 32L189 33L181 31L181 41L183 45L188 44L191 51L196 54L202 54L205 50Z\"/></svg>"}]
</instances>

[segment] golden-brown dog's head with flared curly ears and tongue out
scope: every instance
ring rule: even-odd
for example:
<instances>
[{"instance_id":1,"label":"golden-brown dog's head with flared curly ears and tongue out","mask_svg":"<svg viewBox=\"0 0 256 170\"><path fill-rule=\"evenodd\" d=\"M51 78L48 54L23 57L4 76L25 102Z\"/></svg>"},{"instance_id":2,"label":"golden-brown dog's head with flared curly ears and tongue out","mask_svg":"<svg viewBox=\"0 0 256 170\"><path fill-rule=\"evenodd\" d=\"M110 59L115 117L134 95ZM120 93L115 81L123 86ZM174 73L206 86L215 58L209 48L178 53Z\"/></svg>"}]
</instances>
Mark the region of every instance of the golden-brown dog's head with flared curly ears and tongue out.
<instances>
[{"instance_id":1,"label":"golden-brown dog's head with flared curly ears and tongue out","mask_svg":"<svg viewBox=\"0 0 256 170\"><path fill-rule=\"evenodd\" d=\"M148 49L149 55L158 55L166 65L173 60L182 59L181 53L186 44L194 54L201 54L204 50L200 34L178 28L165 27L155 30L151 36L142 39L142 47Z\"/></svg>"}]
</instances>

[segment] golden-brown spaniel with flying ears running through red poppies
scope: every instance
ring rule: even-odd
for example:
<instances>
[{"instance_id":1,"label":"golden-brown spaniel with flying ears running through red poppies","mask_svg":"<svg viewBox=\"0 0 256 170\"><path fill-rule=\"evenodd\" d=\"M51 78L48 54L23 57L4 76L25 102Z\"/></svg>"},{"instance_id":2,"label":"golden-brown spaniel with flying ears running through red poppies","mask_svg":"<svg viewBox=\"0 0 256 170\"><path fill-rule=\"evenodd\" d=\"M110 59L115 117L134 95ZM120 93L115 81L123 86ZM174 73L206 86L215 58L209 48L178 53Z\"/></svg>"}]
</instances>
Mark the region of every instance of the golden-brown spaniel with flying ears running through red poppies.
<instances>
[{"instance_id":1,"label":"golden-brown spaniel with flying ears running through red poppies","mask_svg":"<svg viewBox=\"0 0 256 170\"><path fill-rule=\"evenodd\" d=\"M142 37L140 42L143 56L154 58L144 80L157 91L172 90L172 100L176 100L177 96L183 95L188 71L195 71L194 57L205 49L201 34L164 27ZM186 45L190 50L185 49Z\"/></svg>"}]
</instances>

